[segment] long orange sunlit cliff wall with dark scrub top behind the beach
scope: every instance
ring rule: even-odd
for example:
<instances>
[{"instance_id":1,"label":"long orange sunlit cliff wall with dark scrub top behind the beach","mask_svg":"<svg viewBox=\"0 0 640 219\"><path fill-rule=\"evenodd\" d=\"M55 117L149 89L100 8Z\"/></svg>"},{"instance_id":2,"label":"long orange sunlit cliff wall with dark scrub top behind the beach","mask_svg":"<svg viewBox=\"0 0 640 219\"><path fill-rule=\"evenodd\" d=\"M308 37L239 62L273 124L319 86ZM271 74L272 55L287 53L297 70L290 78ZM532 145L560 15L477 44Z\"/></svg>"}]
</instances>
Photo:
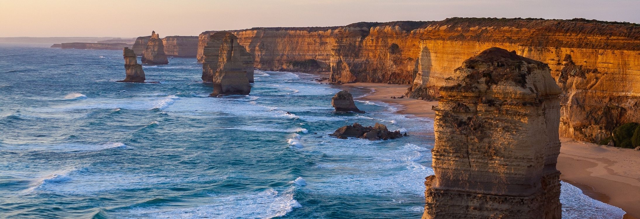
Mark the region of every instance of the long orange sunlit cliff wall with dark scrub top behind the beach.
<instances>
[{"instance_id":1,"label":"long orange sunlit cliff wall with dark scrub top behind the beach","mask_svg":"<svg viewBox=\"0 0 640 219\"><path fill-rule=\"evenodd\" d=\"M200 34L198 61L215 32ZM613 127L640 122L639 24L451 18L230 32L258 69L330 71L333 82L412 85L407 94L420 99L438 98L438 88L463 60L502 47L550 66L564 90L562 136L597 142Z\"/></svg>"}]
</instances>

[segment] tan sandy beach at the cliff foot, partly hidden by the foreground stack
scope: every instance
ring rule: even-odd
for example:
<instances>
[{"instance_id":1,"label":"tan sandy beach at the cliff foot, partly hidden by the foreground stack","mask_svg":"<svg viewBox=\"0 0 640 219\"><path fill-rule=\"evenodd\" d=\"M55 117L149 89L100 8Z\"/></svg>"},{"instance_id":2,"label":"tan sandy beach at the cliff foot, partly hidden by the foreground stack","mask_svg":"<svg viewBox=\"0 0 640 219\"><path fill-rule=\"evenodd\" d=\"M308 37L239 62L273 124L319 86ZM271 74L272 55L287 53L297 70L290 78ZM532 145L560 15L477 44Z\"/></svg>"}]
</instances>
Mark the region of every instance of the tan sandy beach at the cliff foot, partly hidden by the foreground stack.
<instances>
[{"instance_id":1,"label":"tan sandy beach at the cliff foot, partly hidden by the foreground stack","mask_svg":"<svg viewBox=\"0 0 640 219\"><path fill-rule=\"evenodd\" d=\"M401 107L398 113L435 117L431 108L438 104L437 101L390 98L402 96L408 85L353 83L346 86L373 89L372 93L359 99L397 104ZM620 207L627 212L625 219L640 218L640 151L570 138L561 138L561 143L557 169L562 172L563 181L580 188L593 199Z\"/></svg>"}]
</instances>

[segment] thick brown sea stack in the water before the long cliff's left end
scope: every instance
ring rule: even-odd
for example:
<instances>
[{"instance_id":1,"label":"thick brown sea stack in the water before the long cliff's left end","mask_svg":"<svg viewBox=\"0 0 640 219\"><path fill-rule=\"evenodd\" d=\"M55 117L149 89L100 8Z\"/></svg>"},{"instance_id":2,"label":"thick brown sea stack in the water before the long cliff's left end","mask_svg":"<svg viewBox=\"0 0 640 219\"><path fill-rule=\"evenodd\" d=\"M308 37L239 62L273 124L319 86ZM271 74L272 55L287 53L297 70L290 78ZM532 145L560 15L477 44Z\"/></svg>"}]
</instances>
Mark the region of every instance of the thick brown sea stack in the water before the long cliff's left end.
<instances>
[{"instance_id":1,"label":"thick brown sea stack in the water before the long cliff's left end","mask_svg":"<svg viewBox=\"0 0 640 219\"><path fill-rule=\"evenodd\" d=\"M251 92L253 58L236 35L225 31L211 35L203 55L202 81L213 83L211 96Z\"/></svg>"}]
</instances>

